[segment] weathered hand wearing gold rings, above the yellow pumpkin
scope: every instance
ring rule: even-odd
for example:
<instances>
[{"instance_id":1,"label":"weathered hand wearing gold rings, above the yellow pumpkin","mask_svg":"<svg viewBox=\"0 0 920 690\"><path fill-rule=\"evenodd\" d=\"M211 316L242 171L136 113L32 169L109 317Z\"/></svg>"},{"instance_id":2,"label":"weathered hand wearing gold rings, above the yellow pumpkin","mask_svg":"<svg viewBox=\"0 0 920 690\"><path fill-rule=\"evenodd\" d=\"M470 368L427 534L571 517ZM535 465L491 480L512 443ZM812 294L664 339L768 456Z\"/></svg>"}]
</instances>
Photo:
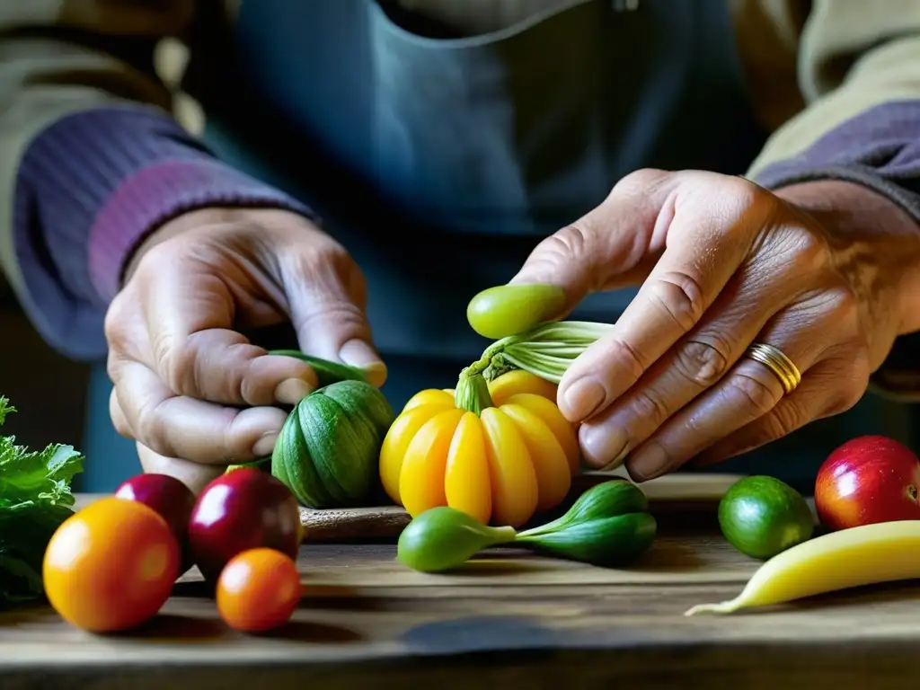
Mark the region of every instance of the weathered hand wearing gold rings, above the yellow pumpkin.
<instances>
[{"instance_id":1,"label":"weathered hand wearing gold rings, above the yellow pumpkin","mask_svg":"<svg viewBox=\"0 0 920 690\"><path fill-rule=\"evenodd\" d=\"M920 328L920 228L855 184L771 193L743 178L641 170L543 241L515 283L586 293L641 284L558 403L594 466L649 479L712 463L851 408L894 339ZM560 315L562 316L562 315ZM801 373L745 357L754 342Z\"/></svg>"}]
</instances>

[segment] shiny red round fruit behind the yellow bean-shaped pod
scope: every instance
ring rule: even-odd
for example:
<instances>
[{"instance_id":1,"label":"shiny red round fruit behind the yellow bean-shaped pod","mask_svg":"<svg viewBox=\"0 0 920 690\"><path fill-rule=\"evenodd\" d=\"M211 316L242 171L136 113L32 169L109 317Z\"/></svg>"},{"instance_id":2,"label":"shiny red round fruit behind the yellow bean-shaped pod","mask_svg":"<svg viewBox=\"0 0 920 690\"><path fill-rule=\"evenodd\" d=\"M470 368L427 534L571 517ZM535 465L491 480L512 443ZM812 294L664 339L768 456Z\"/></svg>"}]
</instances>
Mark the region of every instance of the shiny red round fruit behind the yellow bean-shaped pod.
<instances>
[{"instance_id":1,"label":"shiny red round fruit behind the yellow bean-shaped pod","mask_svg":"<svg viewBox=\"0 0 920 690\"><path fill-rule=\"evenodd\" d=\"M920 520L920 459L885 436L860 436L828 455L814 487L818 518L832 530Z\"/></svg>"}]
</instances>

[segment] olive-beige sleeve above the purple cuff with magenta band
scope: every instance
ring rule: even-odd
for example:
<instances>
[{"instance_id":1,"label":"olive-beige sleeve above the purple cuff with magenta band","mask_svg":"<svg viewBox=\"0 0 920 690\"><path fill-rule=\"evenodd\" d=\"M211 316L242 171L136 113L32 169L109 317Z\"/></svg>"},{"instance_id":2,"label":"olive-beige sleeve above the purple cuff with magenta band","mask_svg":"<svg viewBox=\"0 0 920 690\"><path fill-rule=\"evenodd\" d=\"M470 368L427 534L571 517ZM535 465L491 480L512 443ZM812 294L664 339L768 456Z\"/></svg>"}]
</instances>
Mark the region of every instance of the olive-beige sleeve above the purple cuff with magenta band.
<instances>
[{"instance_id":1,"label":"olive-beige sleeve above the purple cuff with magenta band","mask_svg":"<svg viewBox=\"0 0 920 690\"><path fill-rule=\"evenodd\" d=\"M13 200L29 143L63 116L116 101L172 109L169 89L121 49L151 56L180 37L192 0L5 0L0 4L0 266L13 290L23 279L13 248ZM125 51L128 52L128 51Z\"/></svg>"}]
</instances>

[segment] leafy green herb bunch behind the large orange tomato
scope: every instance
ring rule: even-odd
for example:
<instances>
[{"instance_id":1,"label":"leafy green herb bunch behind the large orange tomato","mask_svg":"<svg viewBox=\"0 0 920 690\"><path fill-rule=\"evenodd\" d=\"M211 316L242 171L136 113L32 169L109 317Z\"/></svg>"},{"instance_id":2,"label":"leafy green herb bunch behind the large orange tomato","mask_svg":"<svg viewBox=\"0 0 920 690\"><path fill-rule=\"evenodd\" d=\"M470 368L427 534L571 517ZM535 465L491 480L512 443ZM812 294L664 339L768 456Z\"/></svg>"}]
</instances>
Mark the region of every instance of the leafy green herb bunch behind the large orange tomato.
<instances>
[{"instance_id":1,"label":"leafy green herb bunch behind the large orange tomato","mask_svg":"<svg viewBox=\"0 0 920 690\"><path fill-rule=\"evenodd\" d=\"M15 411L0 396L0 425ZM0 610L43 595L41 561L54 531L74 514L70 486L83 460L72 445L30 451L0 436Z\"/></svg>"}]
</instances>

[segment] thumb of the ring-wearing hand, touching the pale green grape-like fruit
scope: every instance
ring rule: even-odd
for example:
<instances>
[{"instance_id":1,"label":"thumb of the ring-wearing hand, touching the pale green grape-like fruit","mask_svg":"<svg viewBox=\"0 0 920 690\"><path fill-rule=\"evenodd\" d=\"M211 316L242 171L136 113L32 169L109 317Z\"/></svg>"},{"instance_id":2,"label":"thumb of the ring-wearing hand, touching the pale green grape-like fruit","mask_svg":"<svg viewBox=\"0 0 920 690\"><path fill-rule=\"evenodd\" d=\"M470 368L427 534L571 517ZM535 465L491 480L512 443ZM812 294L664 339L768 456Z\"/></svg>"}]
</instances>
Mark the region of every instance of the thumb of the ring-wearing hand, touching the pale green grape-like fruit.
<instances>
[{"instance_id":1,"label":"thumb of the ring-wearing hand, touching the pale green grape-like fruit","mask_svg":"<svg viewBox=\"0 0 920 690\"><path fill-rule=\"evenodd\" d=\"M557 313L545 318L565 316L590 293L638 284L660 253L655 228L674 187L661 170L628 175L601 205L540 242L509 284L556 287Z\"/></svg>"}]
</instances>

